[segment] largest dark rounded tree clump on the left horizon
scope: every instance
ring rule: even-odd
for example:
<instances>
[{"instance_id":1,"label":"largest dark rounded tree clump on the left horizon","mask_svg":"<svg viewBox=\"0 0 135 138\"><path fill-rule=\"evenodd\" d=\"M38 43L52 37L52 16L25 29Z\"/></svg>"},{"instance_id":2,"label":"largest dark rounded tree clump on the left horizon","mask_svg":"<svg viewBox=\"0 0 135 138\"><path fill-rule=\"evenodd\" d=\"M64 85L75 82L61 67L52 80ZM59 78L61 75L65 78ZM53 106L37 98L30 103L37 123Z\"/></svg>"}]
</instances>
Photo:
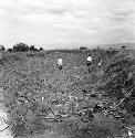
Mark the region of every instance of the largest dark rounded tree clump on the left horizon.
<instances>
[{"instance_id":1,"label":"largest dark rounded tree clump on the left horizon","mask_svg":"<svg viewBox=\"0 0 135 138\"><path fill-rule=\"evenodd\" d=\"M13 51L14 52L24 52L24 51L29 51L29 46L24 43L18 43L15 45L13 45Z\"/></svg>"}]
</instances>

